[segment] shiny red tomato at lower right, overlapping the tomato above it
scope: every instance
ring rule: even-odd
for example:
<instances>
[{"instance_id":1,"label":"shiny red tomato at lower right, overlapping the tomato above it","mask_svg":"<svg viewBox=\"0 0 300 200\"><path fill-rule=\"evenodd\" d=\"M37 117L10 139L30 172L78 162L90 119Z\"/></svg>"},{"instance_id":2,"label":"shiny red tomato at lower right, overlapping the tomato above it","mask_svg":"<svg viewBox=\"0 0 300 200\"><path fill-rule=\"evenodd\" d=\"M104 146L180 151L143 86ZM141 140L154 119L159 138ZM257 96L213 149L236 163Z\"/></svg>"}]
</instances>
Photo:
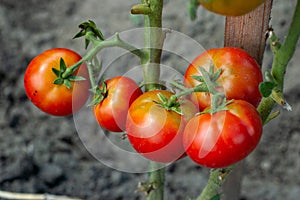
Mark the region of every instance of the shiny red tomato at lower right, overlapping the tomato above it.
<instances>
[{"instance_id":1,"label":"shiny red tomato at lower right, overlapping the tomato above it","mask_svg":"<svg viewBox=\"0 0 300 200\"><path fill-rule=\"evenodd\" d=\"M197 115L186 125L183 145L199 165L227 167L245 158L259 143L262 121L255 107L234 100L227 109Z\"/></svg>"}]
</instances>

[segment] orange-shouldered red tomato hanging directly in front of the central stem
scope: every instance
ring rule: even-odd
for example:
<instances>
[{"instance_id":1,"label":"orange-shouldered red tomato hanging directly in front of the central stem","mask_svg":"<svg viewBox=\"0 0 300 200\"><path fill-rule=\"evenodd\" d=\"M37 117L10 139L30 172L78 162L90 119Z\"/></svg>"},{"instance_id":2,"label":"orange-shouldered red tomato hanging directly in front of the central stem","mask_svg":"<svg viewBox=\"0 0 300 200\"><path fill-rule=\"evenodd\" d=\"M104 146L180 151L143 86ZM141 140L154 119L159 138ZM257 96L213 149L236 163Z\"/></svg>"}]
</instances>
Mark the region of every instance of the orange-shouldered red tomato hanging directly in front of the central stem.
<instances>
[{"instance_id":1,"label":"orange-shouldered red tomato hanging directly in front of the central stem","mask_svg":"<svg viewBox=\"0 0 300 200\"><path fill-rule=\"evenodd\" d=\"M182 133L187 121L197 112L192 102L184 100L180 115L158 105L161 93L170 98L173 93L165 90L149 91L130 106L126 132L133 148L144 157L168 163L184 157Z\"/></svg>"}]
</instances>

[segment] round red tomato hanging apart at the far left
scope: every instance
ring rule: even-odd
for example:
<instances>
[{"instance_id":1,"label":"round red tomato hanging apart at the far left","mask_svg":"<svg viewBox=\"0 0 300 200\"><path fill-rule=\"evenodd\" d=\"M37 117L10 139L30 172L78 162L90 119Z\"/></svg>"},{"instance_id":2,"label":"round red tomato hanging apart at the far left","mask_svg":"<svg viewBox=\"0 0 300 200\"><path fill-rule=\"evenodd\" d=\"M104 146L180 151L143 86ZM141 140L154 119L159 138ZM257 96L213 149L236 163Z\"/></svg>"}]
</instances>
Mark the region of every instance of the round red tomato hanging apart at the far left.
<instances>
[{"instance_id":1,"label":"round red tomato hanging apart at the far left","mask_svg":"<svg viewBox=\"0 0 300 200\"><path fill-rule=\"evenodd\" d=\"M77 112L89 97L90 81L86 65L81 65L73 74L84 77L82 81L72 81L71 88L54 84L57 78L52 68L60 69L60 60L66 67L77 63L81 56L66 48L53 48L36 56L28 65L24 86L26 95L40 110L55 116L67 116Z\"/></svg>"}]
</instances>

